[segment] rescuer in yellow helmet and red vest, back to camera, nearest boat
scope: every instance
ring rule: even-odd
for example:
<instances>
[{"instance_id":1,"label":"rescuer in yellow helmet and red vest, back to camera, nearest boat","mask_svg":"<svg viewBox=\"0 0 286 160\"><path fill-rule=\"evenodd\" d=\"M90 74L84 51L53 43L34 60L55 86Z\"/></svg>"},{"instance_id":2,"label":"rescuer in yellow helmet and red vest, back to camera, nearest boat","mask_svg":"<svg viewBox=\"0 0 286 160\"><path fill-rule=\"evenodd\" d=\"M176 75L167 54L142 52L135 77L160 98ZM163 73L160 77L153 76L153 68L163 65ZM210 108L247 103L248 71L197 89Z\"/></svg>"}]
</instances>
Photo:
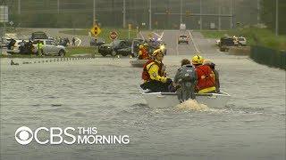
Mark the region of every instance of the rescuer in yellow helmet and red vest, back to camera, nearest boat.
<instances>
[{"instance_id":1,"label":"rescuer in yellow helmet and red vest, back to camera, nearest boat","mask_svg":"<svg viewBox=\"0 0 286 160\"><path fill-rule=\"evenodd\" d=\"M195 55L191 61L193 66L195 67L198 77L196 92L198 93L215 92L214 72L209 66L203 65L204 58L200 55Z\"/></svg>"}]
</instances>

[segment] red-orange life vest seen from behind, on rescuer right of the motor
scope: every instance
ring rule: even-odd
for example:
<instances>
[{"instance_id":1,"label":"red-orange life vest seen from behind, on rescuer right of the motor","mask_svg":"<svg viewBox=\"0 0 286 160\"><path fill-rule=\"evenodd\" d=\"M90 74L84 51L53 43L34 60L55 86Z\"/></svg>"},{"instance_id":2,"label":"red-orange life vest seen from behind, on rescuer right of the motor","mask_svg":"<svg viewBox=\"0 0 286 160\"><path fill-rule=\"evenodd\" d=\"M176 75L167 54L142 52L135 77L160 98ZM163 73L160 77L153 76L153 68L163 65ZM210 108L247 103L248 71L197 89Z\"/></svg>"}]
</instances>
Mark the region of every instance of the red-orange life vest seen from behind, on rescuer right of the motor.
<instances>
[{"instance_id":1,"label":"red-orange life vest seen from behind, on rescuer right of the motor","mask_svg":"<svg viewBox=\"0 0 286 160\"><path fill-rule=\"evenodd\" d=\"M197 91L215 86L214 72L209 66L196 66L196 72L198 76Z\"/></svg>"}]
</instances>

